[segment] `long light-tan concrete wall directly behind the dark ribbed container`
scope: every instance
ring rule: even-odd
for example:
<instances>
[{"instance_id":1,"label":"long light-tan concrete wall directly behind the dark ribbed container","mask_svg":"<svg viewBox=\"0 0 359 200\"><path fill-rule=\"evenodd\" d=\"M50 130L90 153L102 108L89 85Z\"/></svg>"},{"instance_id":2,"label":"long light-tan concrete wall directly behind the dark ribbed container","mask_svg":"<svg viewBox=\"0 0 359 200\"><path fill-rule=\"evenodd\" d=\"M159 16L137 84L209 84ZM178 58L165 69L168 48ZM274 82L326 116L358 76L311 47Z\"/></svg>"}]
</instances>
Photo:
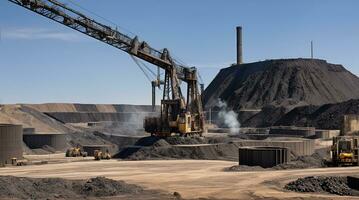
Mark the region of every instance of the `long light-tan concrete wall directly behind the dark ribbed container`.
<instances>
[{"instance_id":1,"label":"long light-tan concrete wall directly behind the dark ribbed container","mask_svg":"<svg viewBox=\"0 0 359 200\"><path fill-rule=\"evenodd\" d=\"M300 138L284 138L277 140L239 140L233 142L240 147L283 147L293 151L298 156L312 155L314 153L314 140Z\"/></svg>"}]
</instances>

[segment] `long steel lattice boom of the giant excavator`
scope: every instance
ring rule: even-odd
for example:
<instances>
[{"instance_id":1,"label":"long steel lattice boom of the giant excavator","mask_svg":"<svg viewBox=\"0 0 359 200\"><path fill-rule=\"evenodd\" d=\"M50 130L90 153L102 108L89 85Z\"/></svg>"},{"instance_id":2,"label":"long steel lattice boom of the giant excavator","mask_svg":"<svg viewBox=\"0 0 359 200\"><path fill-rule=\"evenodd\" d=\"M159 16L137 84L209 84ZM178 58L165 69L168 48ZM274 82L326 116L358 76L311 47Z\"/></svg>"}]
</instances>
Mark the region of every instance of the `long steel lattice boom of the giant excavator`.
<instances>
[{"instance_id":1,"label":"long steel lattice boom of the giant excavator","mask_svg":"<svg viewBox=\"0 0 359 200\"><path fill-rule=\"evenodd\" d=\"M9 1L100 40L101 42L121 49L162 69L166 70L173 64L169 59L167 49L164 49L162 52L158 51L146 42L138 41L137 37L131 38L119 32L116 28L101 24L56 0ZM174 62L174 64L176 64L177 67L178 77L186 81L185 73L186 71L191 71L191 68L182 66L176 62Z\"/></svg>"}]
</instances>

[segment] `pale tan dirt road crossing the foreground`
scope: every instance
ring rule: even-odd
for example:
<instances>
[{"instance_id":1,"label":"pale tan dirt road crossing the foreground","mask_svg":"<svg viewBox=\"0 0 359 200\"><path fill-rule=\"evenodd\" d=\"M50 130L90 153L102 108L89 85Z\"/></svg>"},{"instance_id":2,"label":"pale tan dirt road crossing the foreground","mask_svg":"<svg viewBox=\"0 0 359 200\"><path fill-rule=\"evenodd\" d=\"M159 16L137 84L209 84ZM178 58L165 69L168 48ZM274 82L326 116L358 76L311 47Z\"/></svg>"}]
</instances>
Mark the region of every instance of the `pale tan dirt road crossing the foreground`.
<instances>
[{"instance_id":1,"label":"pale tan dirt road crossing the foreground","mask_svg":"<svg viewBox=\"0 0 359 200\"><path fill-rule=\"evenodd\" d=\"M179 192L184 198L218 199L354 199L324 194L284 191L287 182L310 175L358 174L359 167L286 171L224 172L229 161L88 161L0 168L0 175L84 179L105 176L149 189ZM359 198L356 198L359 199Z\"/></svg>"}]
</instances>

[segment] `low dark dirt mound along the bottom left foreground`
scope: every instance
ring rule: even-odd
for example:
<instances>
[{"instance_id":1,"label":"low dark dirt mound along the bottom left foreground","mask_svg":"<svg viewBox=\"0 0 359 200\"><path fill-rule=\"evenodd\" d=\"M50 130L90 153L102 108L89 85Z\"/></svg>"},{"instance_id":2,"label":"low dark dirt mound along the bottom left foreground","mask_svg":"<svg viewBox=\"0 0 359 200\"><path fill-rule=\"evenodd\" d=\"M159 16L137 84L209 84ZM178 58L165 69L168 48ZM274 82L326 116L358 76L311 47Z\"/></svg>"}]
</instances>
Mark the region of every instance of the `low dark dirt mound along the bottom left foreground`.
<instances>
[{"instance_id":1,"label":"low dark dirt mound along the bottom left foreground","mask_svg":"<svg viewBox=\"0 0 359 200\"><path fill-rule=\"evenodd\" d=\"M61 178L23 178L0 176L0 198L11 199L175 199L174 196L140 186L114 181L104 177L89 180L65 180ZM117 198L116 198L117 199Z\"/></svg>"}]
</instances>

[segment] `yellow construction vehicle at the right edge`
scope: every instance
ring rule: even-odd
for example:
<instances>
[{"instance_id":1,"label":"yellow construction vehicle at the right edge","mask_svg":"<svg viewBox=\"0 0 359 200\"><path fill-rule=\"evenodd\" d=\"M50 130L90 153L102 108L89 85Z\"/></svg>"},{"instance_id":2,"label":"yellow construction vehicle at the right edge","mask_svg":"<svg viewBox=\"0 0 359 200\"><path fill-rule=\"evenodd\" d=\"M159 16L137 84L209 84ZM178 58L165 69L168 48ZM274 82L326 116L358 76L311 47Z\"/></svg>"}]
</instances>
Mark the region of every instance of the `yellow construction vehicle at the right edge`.
<instances>
[{"instance_id":1,"label":"yellow construction vehicle at the right edge","mask_svg":"<svg viewBox=\"0 0 359 200\"><path fill-rule=\"evenodd\" d=\"M338 136L333 138L332 163L335 166L358 166L358 136Z\"/></svg>"}]
</instances>

